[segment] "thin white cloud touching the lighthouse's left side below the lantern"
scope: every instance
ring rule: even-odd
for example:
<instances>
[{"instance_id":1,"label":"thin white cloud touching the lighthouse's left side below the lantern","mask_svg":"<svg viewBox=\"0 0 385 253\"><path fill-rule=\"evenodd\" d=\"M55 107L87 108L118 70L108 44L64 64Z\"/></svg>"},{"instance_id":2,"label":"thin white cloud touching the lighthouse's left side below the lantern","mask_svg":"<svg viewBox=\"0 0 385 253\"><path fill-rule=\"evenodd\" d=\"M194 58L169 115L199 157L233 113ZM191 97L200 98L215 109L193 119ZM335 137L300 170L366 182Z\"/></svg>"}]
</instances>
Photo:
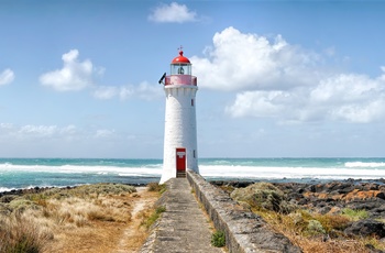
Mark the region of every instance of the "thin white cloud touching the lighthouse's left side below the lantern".
<instances>
[{"instance_id":1,"label":"thin white cloud touching the lighthouse's left side below the lantern","mask_svg":"<svg viewBox=\"0 0 385 253\"><path fill-rule=\"evenodd\" d=\"M94 91L94 97L97 99L112 99L120 98L127 100L130 98L140 98L144 100L153 100L163 96L163 89L160 86L150 85L146 81L138 86L100 86Z\"/></svg>"}]
</instances>

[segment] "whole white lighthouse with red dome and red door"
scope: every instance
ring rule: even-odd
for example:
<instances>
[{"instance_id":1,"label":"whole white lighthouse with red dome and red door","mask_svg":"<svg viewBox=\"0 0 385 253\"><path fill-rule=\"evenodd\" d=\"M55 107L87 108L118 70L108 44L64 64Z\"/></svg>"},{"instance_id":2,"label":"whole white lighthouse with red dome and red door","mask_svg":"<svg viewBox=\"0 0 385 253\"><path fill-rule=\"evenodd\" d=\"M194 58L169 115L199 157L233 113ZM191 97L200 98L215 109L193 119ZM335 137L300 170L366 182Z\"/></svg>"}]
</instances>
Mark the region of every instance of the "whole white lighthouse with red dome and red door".
<instances>
[{"instance_id":1,"label":"whole white lighthouse with red dome and red door","mask_svg":"<svg viewBox=\"0 0 385 253\"><path fill-rule=\"evenodd\" d=\"M184 52L170 63L170 74L162 76L166 95L164 155L161 183L186 177L186 169L198 169L196 100L197 77Z\"/></svg>"}]
</instances>

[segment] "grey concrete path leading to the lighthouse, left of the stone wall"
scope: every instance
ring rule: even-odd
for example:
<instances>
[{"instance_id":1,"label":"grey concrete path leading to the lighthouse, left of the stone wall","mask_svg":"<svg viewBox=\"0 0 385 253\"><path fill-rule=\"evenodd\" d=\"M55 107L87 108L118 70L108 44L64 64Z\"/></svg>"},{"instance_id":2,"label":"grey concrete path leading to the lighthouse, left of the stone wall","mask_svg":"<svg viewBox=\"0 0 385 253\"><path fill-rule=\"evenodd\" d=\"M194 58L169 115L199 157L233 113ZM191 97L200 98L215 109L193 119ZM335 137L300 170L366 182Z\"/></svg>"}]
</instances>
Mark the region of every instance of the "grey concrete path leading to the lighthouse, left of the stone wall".
<instances>
[{"instance_id":1,"label":"grey concrete path leading to the lighthouse, left of the stone wall","mask_svg":"<svg viewBox=\"0 0 385 253\"><path fill-rule=\"evenodd\" d=\"M153 242L142 252L223 252L211 246L209 218L197 202L186 178L167 182L166 211L155 229Z\"/></svg>"}]
</instances>

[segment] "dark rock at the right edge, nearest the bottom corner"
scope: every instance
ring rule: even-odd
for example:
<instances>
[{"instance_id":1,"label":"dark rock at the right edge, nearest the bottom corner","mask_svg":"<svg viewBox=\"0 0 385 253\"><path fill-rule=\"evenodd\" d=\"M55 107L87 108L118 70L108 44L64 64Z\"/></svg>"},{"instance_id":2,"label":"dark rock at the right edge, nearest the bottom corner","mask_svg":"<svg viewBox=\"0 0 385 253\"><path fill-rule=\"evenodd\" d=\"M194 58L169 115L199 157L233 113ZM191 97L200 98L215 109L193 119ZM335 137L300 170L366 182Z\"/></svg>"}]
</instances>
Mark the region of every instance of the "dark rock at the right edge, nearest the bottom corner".
<instances>
[{"instance_id":1,"label":"dark rock at the right edge, nearest the bottom corner","mask_svg":"<svg viewBox=\"0 0 385 253\"><path fill-rule=\"evenodd\" d=\"M376 235L378 238L384 238L385 223L372 219L359 220L351 223L351 226L344 230L344 233L346 235Z\"/></svg>"}]
</instances>

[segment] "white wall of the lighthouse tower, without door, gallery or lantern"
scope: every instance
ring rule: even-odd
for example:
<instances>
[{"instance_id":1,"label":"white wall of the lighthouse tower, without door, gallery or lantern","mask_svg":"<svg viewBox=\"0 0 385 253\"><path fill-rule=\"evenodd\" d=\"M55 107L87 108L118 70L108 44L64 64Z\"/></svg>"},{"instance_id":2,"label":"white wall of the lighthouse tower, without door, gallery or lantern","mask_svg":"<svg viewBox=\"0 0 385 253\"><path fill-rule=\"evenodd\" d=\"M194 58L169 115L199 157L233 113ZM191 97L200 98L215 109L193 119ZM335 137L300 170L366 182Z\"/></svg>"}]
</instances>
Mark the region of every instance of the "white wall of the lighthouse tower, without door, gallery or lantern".
<instances>
[{"instance_id":1,"label":"white wall of the lighthouse tower, without door, gallery or lantern","mask_svg":"<svg viewBox=\"0 0 385 253\"><path fill-rule=\"evenodd\" d=\"M161 183L176 177L176 148L186 148L186 168L199 173L194 85L167 85L164 157Z\"/></svg>"}]
</instances>

